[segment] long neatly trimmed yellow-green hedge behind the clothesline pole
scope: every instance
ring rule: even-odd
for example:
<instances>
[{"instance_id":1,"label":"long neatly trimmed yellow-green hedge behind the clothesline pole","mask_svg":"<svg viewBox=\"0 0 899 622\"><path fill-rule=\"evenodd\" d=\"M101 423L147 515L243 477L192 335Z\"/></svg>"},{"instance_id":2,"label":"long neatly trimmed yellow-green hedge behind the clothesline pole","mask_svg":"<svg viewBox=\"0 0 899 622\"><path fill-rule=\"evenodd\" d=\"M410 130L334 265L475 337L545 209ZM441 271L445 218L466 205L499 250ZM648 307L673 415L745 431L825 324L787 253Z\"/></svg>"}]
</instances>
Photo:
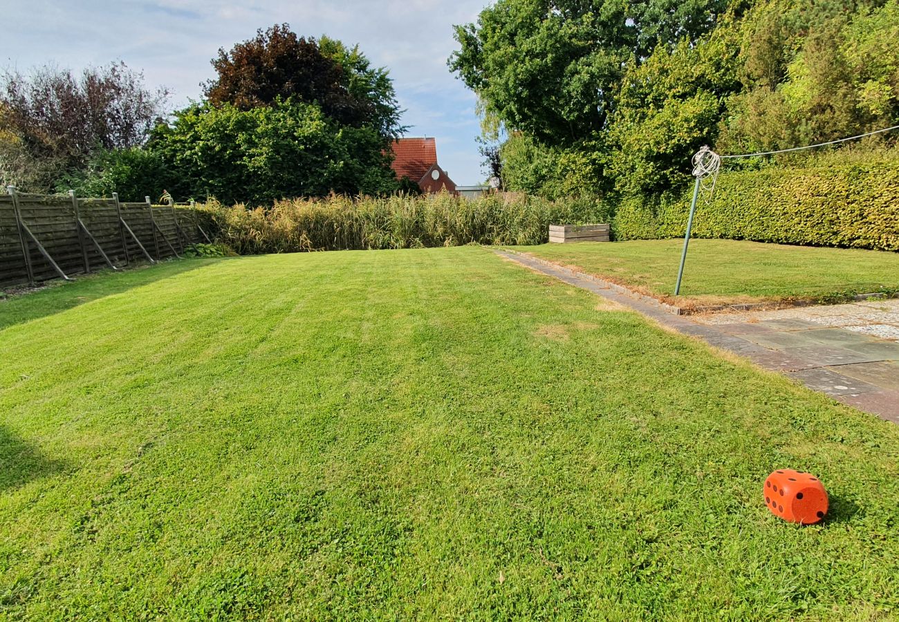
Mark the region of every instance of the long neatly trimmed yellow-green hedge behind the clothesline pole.
<instances>
[{"instance_id":1,"label":"long neatly trimmed yellow-green hedge behind the clothesline pole","mask_svg":"<svg viewBox=\"0 0 899 622\"><path fill-rule=\"evenodd\" d=\"M682 237L692 190L620 200L612 235ZM721 173L712 202L699 200L693 235L899 251L899 162Z\"/></svg>"}]
</instances>

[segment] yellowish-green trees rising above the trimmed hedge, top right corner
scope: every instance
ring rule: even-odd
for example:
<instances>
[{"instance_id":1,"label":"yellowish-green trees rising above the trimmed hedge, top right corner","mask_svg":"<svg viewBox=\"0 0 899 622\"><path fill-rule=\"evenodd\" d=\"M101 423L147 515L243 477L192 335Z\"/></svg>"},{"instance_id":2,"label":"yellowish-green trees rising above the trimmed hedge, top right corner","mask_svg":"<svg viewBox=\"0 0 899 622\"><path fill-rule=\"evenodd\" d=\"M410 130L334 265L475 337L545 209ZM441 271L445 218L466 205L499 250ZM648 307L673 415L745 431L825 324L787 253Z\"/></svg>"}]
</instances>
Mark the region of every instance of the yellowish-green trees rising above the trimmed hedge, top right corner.
<instances>
[{"instance_id":1,"label":"yellowish-green trees rising above the trimmed hedge, top right corner","mask_svg":"<svg viewBox=\"0 0 899 622\"><path fill-rule=\"evenodd\" d=\"M899 123L899 0L770 0L742 30L743 89L728 102L720 148L788 148Z\"/></svg>"}]
</instances>

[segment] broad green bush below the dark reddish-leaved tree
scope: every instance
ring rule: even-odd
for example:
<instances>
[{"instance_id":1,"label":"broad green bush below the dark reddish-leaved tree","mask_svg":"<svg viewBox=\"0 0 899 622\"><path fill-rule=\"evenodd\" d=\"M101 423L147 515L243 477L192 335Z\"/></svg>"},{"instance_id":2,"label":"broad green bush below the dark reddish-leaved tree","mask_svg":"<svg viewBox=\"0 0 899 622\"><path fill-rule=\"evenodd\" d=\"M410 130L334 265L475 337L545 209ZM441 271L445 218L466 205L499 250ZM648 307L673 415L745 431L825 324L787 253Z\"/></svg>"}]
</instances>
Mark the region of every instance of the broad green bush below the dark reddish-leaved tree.
<instances>
[{"instance_id":1,"label":"broad green bush below the dark reddish-leaved tree","mask_svg":"<svg viewBox=\"0 0 899 622\"><path fill-rule=\"evenodd\" d=\"M275 102L240 110L194 105L160 125L148 148L177 177L179 197L213 196L254 205L296 196L396 190L385 138L370 127L343 127L315 104Z\"/></svg>"}]
</instances>

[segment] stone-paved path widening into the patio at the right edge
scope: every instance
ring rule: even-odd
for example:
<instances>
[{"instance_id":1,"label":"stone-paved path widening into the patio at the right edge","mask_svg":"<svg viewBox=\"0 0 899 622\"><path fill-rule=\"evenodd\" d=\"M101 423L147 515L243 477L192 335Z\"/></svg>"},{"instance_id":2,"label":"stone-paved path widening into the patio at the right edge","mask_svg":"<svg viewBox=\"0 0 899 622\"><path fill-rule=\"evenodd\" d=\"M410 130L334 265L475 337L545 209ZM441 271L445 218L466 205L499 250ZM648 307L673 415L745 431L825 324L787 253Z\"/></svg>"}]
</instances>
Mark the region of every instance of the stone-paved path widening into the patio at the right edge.
<instances>
[{"instance_id":1,"label":"stone-paved path widening into the patio at the right edge","mask_svg":"<svg viewBox=\"0 0 899 622\"><path fill-rule=\"evenodd\" d=\"M495 252L752 360L764 369L778 371L838 402L899 422L899 300L672 315L653 301L610 289L589 275L526 255Z\"/></svg>"}]
</instances>

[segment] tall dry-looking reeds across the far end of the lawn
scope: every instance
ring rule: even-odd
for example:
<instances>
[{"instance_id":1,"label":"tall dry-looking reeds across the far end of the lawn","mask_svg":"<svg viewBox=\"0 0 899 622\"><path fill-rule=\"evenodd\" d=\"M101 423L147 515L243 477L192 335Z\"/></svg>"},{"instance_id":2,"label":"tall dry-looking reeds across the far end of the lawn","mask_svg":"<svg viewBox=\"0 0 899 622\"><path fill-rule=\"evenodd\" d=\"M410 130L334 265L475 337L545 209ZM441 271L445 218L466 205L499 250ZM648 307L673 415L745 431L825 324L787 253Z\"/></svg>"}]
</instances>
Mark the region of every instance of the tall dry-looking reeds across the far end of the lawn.
<instances>
[{"instance_id":1,"label":"tall dry-looking reeds across the far end of the lawn","mask_svg":"<svg viewBox=\"0 0 899 622\"><path fill-rule=\"evenodd\" d=\"M280 200L249 209L209 203L220 240L240 254L460 244L542 244L557 223L608 222L596 200L490 194Z\"/></svg>"}]
</instances>

